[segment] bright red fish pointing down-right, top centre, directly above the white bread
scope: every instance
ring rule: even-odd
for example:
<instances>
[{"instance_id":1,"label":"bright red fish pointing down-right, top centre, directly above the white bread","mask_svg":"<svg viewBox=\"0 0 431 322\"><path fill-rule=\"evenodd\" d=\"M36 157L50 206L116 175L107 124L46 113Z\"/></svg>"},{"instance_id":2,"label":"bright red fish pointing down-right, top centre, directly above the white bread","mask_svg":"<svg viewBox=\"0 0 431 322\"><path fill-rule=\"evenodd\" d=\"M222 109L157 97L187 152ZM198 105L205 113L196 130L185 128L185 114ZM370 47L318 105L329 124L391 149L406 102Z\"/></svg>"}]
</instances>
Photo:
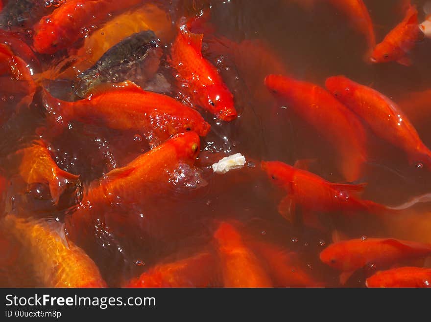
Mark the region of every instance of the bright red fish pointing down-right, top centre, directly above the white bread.
<instances>
[{"instance_id":1,"label":"bright red fish pointing down-right, top centre, directly above the white bread","mask_svg":"<svg viewBox=\"0 0 431 322\"><path fill-rule=\"evenodd\" d=\"M186 24L180 26L172 44L170 64L180 77L180 84L187 83L192 102L216 115L223 121L237 117L233 95L224 84L216 67L202 56L202 34L193 34Z\"/></svg>"}]
</instances>

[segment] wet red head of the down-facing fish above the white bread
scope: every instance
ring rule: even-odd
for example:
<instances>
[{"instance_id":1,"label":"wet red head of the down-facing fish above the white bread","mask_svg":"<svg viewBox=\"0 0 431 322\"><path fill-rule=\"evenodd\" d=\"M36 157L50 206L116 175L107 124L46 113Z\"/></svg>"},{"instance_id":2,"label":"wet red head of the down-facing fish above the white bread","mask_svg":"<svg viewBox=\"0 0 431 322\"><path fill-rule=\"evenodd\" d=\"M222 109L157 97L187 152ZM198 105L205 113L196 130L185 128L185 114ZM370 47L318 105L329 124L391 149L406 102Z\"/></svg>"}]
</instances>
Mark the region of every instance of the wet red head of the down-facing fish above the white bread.
<instances>
[{"instance_id":1,"label":"wet red head of the down-facing fish above the white bread","mask_svg":"<svg viewBox=\"0 0 431 322\"><path fill-rule=\"evenodd\" d=\"M202 89L205 109L215 114L219 119L229 122L237 118L234 107L234 97L224 84L213 84Z\"/></svg>"}]
</instances>

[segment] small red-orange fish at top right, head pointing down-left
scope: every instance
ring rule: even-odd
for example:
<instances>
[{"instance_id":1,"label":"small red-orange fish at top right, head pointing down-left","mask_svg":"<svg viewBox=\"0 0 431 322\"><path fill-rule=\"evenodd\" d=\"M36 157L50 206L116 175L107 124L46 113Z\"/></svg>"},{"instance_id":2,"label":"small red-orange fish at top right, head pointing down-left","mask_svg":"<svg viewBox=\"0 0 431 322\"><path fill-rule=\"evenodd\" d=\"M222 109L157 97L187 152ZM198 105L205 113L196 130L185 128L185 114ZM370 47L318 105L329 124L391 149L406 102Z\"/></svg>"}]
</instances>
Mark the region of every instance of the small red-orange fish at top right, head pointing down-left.
<instances>
[{"instance_id":1,"label":"small red-orange fish at top right, head pointing down-left","mask_svg":"<svg viewBox=\"0 0 431 322\"><path fill-rule=\"evenodd\" d=\"M382 43L378 43L374 48L371 62L398 62L405 66L411 65L411 60L406 55L424 37L424 33L419 28L417 16L416 8L410 6L404 20L384 37Z\"/></svg>"}]
</instances>

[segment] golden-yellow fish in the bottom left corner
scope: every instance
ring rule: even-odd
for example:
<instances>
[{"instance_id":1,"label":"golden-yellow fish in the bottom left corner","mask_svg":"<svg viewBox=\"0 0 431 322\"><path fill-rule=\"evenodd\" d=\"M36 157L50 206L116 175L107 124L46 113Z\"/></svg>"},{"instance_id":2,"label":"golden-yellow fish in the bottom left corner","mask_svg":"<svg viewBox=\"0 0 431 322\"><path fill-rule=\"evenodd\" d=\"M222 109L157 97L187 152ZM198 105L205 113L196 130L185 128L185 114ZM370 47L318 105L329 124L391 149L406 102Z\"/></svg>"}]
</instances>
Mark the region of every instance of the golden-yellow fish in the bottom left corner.
<instances>
[{"instance_id":1,"label":"golden-yellow fish in the bottom left corner","mask_svg":"<svg viewBox=\"0 0 431 322\"><path fill-rule=\"evenodd\" d=\"M56 222L6 215L4 224L32 258L35 276L44 287L106 287L94 261L72 242L64 240L64 228Z\"/></svg>"}]
</instances>

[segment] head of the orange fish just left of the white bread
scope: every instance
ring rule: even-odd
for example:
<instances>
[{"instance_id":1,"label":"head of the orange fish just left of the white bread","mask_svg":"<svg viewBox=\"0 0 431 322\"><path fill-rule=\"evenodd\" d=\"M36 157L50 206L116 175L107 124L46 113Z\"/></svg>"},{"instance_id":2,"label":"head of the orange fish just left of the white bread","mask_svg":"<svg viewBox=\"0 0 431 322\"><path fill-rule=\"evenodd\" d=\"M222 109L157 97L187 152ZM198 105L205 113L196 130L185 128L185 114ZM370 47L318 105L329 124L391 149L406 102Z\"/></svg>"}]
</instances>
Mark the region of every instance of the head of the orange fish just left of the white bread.
<instances>
[{"instance_id":1,"label":"head of the orange fish just left of the white bread","mask_svg":"<svg viewBox=\"0 0 431 322\"><path fill-rule=\"evenodd\" d=\"M200 151L200 139L196 132L178 133L168 142L175 148L179 161L188 165L194 164Z\"/></svg>"}]
</instances>

